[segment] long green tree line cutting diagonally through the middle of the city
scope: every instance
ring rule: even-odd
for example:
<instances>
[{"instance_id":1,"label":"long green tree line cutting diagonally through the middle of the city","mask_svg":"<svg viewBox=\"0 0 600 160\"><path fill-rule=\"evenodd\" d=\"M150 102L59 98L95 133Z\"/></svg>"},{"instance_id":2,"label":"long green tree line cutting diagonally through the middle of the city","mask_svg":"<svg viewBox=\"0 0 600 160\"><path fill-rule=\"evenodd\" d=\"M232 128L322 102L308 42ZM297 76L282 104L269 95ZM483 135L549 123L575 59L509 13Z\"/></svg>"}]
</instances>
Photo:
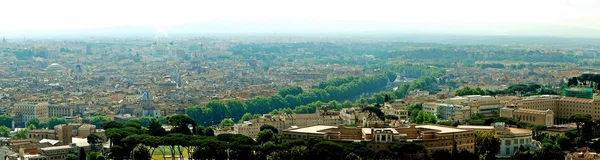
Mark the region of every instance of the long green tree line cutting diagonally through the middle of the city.
<instances>
[{"instance_id":1,"label":"long green tree line cutting diagonally through the middle of the city","mask_svg":"<svg viewBox=\"0 0 600 160\"><path fill-rule=\"evenodd\" d=\"M203 106L192 106L186 114L202 125L217 124L224 118L240 119L245 113L264 114L275 109L309 105L315 102L344 101L367 92L384 88L395 80L393 73L362 78L336 78L319 85L309 92L299 87L286 87L271 97L256 97L245 101L210 101ZM285 94L285 95L284 95ZM314 111L313 111L314 112Z\"/></svg>"}]
</instances>

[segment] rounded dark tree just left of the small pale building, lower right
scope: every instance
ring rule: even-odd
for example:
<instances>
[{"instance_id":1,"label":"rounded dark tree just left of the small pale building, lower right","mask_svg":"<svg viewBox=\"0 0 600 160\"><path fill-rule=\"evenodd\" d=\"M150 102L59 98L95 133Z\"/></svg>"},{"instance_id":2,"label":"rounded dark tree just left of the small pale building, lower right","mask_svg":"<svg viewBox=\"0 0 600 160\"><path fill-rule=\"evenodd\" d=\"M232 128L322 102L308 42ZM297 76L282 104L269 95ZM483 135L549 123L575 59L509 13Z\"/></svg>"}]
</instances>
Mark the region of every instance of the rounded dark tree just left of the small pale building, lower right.
<instances>
[{"instance_id":1,"label":"rounded dark tree just left of the small pale building, lower right","mask_svg":"<svg viewBox=\"0 0 600 160\"><path fill-rule=\"evenodd\" d=\"M494 132L479 132L475 136L475 154L493 158L500 151L500 138Z\"/></svg>"}]
</instances>

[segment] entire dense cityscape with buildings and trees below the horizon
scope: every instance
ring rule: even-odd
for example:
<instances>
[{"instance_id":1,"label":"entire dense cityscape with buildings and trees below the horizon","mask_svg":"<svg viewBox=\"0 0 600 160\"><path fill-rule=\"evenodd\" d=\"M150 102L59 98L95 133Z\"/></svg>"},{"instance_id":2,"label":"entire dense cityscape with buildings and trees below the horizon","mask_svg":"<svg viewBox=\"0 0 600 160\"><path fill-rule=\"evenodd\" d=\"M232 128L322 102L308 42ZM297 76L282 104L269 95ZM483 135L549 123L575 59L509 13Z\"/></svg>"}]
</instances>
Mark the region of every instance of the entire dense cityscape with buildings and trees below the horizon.
<instances>
[{"instance_id":1,"label":"entire dense cityscape with buildings and trees below the horizon","mask_svg":"<svg viewBox=\"0 0 600 160\"><path fill-rule=\"evenodd\" d=\"M3 38L0 158L596 160L598 42Z\"/></svg>"}]
</instances>

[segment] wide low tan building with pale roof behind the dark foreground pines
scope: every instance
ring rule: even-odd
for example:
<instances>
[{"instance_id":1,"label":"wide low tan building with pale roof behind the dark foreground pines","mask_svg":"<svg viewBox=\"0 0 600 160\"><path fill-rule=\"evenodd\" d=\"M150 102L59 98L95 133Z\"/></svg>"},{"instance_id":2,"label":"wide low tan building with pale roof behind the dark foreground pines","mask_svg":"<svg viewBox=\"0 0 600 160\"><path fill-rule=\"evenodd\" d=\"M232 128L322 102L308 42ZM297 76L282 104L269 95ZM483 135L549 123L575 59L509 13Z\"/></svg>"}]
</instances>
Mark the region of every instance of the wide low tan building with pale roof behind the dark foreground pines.
<instances>
[{"instance_id":1,"label":"wide low tan building with pale roof behind the dark foreground pines","mask_svg":"<svg viewBox=\"0 0 600 160\"><path fill-rule=\"evenodd\" d=\"M428 154L438 150L457 149L473 152L475 133L470 129L458 129L440 125L411 125L398 128L361 128L343 125L314 125L294 127L281 132L284 139L323 138L337 142L364 142L374 151L388 150L390 142L411 141L425 146Z\"/></svg>"}]
</instances>

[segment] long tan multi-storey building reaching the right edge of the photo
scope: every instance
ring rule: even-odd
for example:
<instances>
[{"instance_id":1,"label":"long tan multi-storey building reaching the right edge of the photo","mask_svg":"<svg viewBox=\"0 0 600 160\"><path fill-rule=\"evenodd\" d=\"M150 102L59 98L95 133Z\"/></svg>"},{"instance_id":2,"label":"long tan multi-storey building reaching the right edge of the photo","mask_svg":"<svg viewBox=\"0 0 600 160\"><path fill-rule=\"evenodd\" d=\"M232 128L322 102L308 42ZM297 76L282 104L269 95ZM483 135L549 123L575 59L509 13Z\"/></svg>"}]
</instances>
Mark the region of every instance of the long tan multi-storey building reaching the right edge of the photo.
<instances>
[{"instance_id":1,"label":"long tan multi-storey building reaching the right edge of the photo","mask_svg":"<svg viewBox=\"0 0 600 160\"><path fill-rule=\"evenodd\" d=\"M575 114L589 114L592 119L600 118L600 100L574 97L534 96L514 101L513 106L520 109L550 110L554 113L554 124L569 123Z\"/></svg>"}]
</instances>

